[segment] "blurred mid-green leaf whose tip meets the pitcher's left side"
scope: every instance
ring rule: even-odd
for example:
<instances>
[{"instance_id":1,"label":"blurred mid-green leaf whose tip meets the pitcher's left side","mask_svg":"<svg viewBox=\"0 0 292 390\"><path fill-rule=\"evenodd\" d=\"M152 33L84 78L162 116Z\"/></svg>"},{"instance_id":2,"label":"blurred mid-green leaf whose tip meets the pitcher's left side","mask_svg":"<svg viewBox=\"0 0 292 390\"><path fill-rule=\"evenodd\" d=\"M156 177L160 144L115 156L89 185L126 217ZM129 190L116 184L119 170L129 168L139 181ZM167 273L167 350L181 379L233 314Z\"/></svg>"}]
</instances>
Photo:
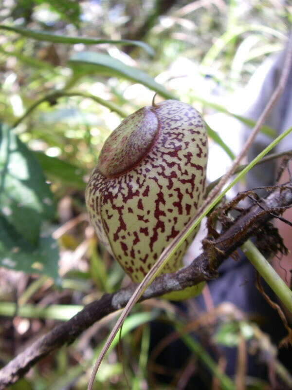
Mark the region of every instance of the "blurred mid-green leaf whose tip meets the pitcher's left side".
<instances>
[{"instance_id":1,"label":"blurred mid-green leaf whose tip meets the pitcher's left side","mask_svg":"<svg viewBox=\"0 0 292 390\"><path fill-rule=\"evenodd\" d=\"M87 172L70 162L63 161L56 157L49 157L42 152L34 152L37 160L45 172L50 178L54 180L60 180L62 184L78 188L80 190L85 189L84 176Z\"/></svg>"}]
</instances>

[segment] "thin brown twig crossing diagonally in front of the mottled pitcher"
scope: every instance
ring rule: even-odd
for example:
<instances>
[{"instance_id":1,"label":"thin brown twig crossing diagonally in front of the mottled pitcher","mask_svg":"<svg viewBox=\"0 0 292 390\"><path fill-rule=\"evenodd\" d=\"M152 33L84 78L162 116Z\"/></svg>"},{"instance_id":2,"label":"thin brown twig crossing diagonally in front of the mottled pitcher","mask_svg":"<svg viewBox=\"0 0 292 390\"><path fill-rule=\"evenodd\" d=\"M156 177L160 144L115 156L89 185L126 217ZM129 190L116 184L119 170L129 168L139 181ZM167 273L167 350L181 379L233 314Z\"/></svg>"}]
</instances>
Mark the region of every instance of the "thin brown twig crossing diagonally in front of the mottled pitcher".
<instances>
[{"instance_id":1,"label":"thin brown twig crossing diagonally in front of the mottled pitcher","mask_svg":"<svg viewBox=\"0 0 292 390\"><path fill-rule=\"evenodd\" d=\"M153 265L151 270L146 274L146 276L143 279L143 281L139 284L139 286L137 287L136 291L134 292L134 294L129 299L126 308L123 310L121 316L119 317L118 321L116 322L115 326L113 327L112 331L110 332L110 335L109 335L109 337L108 337L108 339L107 339L107 341L106 341L102 351L100 352L97 360L96 360L96 363L94 365L94 368L93 368L93 371L92 371L92 374L91 374L91 378L90 378L90 381L89 381L88 390L92 390L93 382L94 382L94 379L95 379L95 375L96 375L96 372L97 372L97 370L98 370L98 368L100 366L100 363L101 363L102 359L104 358L106 352L108 351L108 349L110 347L110 344L111 344L113 338L115 337L118 329L120 328L121 324L125 321L125 318L128 316L128 314L131 311L132 307L139 300L140 296L146 290L147 286L153 281L155 276L157 274L159 274L161 269L164 267L164 265L166 263L166 260L167 260L167 258L170 257L170 254L172 253L174 247L176 247L180 243L180 241L182 240L182 238L184 237L184 235L188 231L191 232L192 225L195 224L195 222L197 221L198 217L212 203L212 201L216 198L216 196L219 195L219 193L222 190L222 188L224 187L224 185L227 183L229 178L233 175L233 173L237 169L241 159L244 156L246 156L246 154L247 154L250 146L252 145L252 143L253 143L257 133L259 132L261 126L264 124L266 118L268 117L268 115L271 112L272 108L274 107L275 103L280 98L281 94L283 93L283 90L285 88L285 85L286 85L286 82L287 82L287 79L288 79L289 71L291 69L291 64L292 64L292 39L289 39L288 47L287 47L287 54L286 54L285 62L283 64L283 71L282 71L279 83L278 83L278 85L277 85L277 87L276 87L272 97L269 99L265 109L263 110L263 113L261 114L261 116L256 121L256 125L255 125L252 133L248 137L245 145L243 146L243 149L242 149L241 153L235 158L231 168L221 178L221 180L219 181L218 185L211 191L211 193L209 194L207 199L203 202L201 207L199 207L196 215L190 220L190 222L185 226L185 228L173 239L171 244L168 247L166 247L164 252L161 254L159 259ZM220 198L218 200L220 200Z\"/></svg>"}]
</instances>

